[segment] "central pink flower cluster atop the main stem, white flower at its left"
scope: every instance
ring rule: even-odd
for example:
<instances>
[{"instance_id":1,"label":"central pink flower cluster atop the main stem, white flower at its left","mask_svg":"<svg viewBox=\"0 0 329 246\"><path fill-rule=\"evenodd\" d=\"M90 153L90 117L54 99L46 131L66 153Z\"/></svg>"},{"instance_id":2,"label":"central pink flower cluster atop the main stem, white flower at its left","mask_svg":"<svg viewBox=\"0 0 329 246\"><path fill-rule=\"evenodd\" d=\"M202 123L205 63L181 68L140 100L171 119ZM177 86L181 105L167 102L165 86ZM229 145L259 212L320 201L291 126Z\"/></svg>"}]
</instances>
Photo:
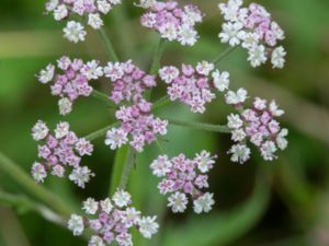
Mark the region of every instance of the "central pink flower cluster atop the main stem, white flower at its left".
<instances>
[{"instance_id":1,"label":"central pink flower cluster atop the main stem, white flower at its left","mask_svg":"<svg viewBox=\"0 0 329 246\"><path fill-rule=\"evenodd\" d=\"M137 152L141 152L146 143L157 140L157 134L167 134L168 121L155 117L150 110L151 103L145 99L137 105L122 106L115 114L121 127L107 131L105 144L115 150L129 143Z\"/></svg>"}]
</instances>

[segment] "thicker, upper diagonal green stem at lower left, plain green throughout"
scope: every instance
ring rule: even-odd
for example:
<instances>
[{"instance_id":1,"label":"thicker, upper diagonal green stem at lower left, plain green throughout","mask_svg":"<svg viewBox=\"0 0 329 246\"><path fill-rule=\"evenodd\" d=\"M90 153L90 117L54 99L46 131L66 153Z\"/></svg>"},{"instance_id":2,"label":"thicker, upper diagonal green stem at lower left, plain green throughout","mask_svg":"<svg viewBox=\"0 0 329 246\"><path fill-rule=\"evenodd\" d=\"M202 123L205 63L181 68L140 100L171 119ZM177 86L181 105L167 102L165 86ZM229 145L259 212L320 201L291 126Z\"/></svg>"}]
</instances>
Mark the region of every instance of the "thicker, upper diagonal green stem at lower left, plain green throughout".
<instances>
[{"instance_id":1,"label":"thicker, upper diagonal green stem at lower left, plain green throughout","mask_svg":"<svg viewBox=\"0 0 329 246\"><path fill-rule=\"evenodd\" d=\"M26 189L31 195L38 198L45 204L53 208L54 211L58 212L64 216L71 214L71 209L67 204L56 197L54 194L45 189L44 187L35 184L35 181L27 175L18 164L8 159L4 154L0 152L0 169L4 172L8 176L20 184L24 189Z\"/></svg>"}]
</instances>

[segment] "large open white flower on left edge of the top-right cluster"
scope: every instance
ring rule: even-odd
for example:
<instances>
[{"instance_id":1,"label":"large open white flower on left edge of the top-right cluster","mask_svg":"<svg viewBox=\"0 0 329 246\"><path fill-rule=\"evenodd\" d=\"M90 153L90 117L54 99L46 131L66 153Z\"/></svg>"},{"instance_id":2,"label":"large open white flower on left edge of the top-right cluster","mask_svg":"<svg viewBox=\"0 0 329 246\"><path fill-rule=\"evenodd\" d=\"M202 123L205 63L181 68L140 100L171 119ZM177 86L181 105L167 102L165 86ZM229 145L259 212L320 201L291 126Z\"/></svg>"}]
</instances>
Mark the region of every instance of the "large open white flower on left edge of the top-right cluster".
<instances>
[{"instance_id":1,"label":"large open white flower on left edge of the top-right cluster","mask_svg":"<svg viewBox=\"0 0 329 246\"><path fill-rule=\"evenodd\" d=\"M230 46L237 46L240 44L245 32L242 31L243 25L240 22L236 23L224 23L223 31L218 34L222 43L228 43Z\"/></svg>"}]
</instances>

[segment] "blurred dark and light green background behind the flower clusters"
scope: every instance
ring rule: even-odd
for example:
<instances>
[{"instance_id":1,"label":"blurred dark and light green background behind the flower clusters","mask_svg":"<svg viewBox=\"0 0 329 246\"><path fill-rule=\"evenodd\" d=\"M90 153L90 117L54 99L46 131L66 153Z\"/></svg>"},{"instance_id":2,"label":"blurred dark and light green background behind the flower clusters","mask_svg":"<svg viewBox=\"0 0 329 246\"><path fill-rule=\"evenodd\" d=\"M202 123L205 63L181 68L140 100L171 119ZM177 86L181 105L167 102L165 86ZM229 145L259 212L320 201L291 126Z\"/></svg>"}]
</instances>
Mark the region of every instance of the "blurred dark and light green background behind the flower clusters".
<instances>
[{"instance_id":1,"label":"blurred dark and light green background behind the flower clusters","mask_svg":"<svg viewBox=\"0 0 329 246\"><path fill-rule=\"evenodd\" d=\"M167 45L162 63L195 63L213 59L226 48L217 38L223 22L216 9L218 1L194 2L207 14L198 26L200 42L193 48ZM238 49L222 61L219 69L230 72L234 87L245 86L251 96L277 99L286 112L282 124L291 131L288 149L273 163L263 162L253 152L252 161L237 165L225 154L231 145L229 136L170 127L169 142L163 148L171 155L184 152L192 156L203 149L219 154L211 174L216 208L201 216L193 213L173 216L167 211L166 201L156 188L157 179L148 167L158 154L157 149L150 147L138 156L129 190L139 209L159 215L161 233L149 242L136 238L135 245L329 245L329 1L258 2L286 32L285 68L251 69L246 51ZM36 143L30 132L37 119L50 126L68 120L80 136L113 120L112 112L94 98L80 98L68 117L58 116L57 98L50 96L48 86L37 83L34 74L61 55L102 61L106 61L106 57L94 32L88 30L86 43L69 44L61 37L64 23L56 23L43 11L44 1L0 1L0 151L26 172L36 159ZM132 58L147 69L158 36L139 25L140 13L132 0L126 0L125 5L116 7L106 16L106 32L122 59ZM102 90L107 84L102 81L94 86ZM155 97L161 93L163 89L157 90ZM169 107L161 116L225 124L229 112L219 97L204 116L192 115L184 106ZM97 174L84 190L54 177L43 186L79 212L82 199L106 196L113 159L114 153L100 139L95 142L94 155L83 160ZM4 173L0 173L0 190L31 196ZM0 245L78 246L87 243L29 209L0 204Z\"/></svg>"}]
</instances>

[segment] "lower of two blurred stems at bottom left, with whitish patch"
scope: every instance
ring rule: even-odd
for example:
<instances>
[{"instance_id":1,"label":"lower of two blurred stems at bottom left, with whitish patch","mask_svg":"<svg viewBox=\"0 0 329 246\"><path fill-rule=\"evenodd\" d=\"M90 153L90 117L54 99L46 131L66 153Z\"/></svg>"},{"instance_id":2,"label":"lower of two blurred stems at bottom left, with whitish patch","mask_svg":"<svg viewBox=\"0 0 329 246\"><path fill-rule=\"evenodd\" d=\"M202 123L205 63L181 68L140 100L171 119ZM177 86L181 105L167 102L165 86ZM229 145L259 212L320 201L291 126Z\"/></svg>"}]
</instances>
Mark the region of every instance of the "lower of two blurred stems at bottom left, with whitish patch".
<instances>
[{"instance_id":1,"label":"lower of two blurred stems at bottom left, with whitish patch","mask_svg":"<svg viewBox=\"0 0 329 246\"><path fill-rule=\"evenodd\" d=\"M65 220L45 206L42 206L25 196L12 195L0 191L0 202L3 206L18 209L19 211L33 211L46 221L65 226Z\"/></svg>"}]
</instances>

